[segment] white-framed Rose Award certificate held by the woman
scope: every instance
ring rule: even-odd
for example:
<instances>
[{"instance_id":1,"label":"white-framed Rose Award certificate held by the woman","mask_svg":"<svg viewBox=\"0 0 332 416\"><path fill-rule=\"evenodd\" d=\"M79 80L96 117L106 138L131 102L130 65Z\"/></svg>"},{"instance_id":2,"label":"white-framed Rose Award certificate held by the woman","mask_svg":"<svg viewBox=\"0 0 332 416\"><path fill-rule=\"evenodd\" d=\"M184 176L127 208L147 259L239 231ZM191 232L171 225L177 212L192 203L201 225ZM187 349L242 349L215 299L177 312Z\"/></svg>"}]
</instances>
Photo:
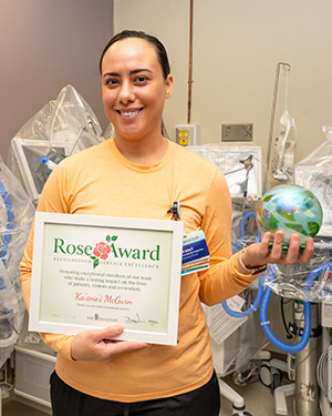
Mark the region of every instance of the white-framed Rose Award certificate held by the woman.
<instances>
[{"instance_id":1,"label":"white-framed Rose Award certificate held by the woman","mask_svg":"<svg viewBox=\"0 0 332 416\"><path fill-rule=\"evenodd\" d=\"M183 223L37 212L29 329L176 345Z\"/></svg>"}]
</instances>

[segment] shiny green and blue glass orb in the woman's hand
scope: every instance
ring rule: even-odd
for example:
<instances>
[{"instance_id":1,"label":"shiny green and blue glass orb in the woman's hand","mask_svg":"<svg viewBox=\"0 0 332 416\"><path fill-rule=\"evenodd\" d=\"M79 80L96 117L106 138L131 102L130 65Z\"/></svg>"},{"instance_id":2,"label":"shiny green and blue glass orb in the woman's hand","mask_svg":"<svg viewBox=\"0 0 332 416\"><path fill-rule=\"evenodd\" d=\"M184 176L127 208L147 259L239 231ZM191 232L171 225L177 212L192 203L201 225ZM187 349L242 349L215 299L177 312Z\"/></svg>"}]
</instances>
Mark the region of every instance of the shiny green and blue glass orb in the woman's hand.
<instances>
[{"instance_id":1,"label":"shiny green and blue glass orb in the woman's hand","mask_svg":"<svg viewBox=\"0 0 332 416\"><path fill-rule=\"evenodd\" d=\"M263 194L256 212L257 225L263 234L283 231L282 250L287 252L292 234L300 235L300 251L308 237L314 237L323 221L323 211L314 194L300 185L284 184ZM271 243L272 245L272 243Z\"/></svg>"}]
</instances>

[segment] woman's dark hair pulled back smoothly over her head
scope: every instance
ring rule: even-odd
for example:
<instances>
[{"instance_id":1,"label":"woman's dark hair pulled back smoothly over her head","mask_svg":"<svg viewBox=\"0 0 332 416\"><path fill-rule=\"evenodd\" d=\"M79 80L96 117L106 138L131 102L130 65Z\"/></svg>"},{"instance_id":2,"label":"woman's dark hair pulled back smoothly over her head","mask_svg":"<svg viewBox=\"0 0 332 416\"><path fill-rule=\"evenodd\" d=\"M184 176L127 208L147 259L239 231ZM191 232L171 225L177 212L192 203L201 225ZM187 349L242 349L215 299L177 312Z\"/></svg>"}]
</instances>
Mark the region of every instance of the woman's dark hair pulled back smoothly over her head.
<instances>
[{"instance_id":1,"label":"woman's dark hair pulled back smoothly over her head","mask_svg":"<svg viewBox=\"0 0 332 416\"><path fill-rule=\"evenodd\" d=\"M164 44L155 37L152 34L147 34L145 32L141 32L137 30L123 30L122 32L115 34L106 44L105 49L102 52L101 59L100 59L100 72L102 74L102 62L104 59L104 55L107 51L107 49L115 42L118 42L120 40L127 39L127 38L138 38L138 39L144 39L147 42L152 43L155 47L155 50L158 55L158 60L160 63L160 67L163 69L163 75L164 79L166 80L167 75L170 73L170 67L169 67L169 61L167 57L166 49Z\"/></svg>"}]
</instances>

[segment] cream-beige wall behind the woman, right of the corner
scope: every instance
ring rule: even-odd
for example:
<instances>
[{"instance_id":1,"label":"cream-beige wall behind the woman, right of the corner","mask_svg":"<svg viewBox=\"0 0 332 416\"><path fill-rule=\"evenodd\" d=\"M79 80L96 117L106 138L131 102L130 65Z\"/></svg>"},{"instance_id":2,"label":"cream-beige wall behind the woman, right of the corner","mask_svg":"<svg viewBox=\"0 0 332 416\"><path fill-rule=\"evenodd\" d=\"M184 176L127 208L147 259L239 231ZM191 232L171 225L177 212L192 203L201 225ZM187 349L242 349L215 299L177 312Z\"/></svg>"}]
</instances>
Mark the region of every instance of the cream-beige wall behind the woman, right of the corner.
<instances>
[{"instance_id":1,"label":"cream-beige wall behind the woman, right of the corner","mask_svg":"<svg viewBox=\"0 0 332 416\"><path fill-rule=\"evenodd\" d=\"M297 161L325 138L332 122L330 0L194 0L191 123L201 143L221 141L221 123L253 123L267 150L274 74L291 64L288 110L298 126ZM166 45L176 80L165 109L170 135L187 122L189 0L114 0L114 29L139 29ZM281 71L276 122L283 111ZM276 124L277 129L278 124Z\"/></svg>"}]
</instances>

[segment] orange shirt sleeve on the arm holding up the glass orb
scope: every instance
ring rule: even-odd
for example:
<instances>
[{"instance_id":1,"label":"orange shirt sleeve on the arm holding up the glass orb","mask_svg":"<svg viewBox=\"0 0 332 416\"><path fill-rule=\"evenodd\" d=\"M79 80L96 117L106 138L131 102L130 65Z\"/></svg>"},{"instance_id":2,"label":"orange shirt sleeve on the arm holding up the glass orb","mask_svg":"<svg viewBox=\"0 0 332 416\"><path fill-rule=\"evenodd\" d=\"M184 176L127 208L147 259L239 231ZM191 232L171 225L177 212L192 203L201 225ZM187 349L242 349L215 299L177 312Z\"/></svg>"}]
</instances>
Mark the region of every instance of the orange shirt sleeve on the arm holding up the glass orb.
<instances>
[{"instance_id":1,"label":"orange shirt sleeve on the arm holding up the glass orb","mask_svg":"<svg viewBox=\"0 0 332 416\"><path fill-rule=\"evenodd\" d=\"M199 273L199 296L211 306L242 292L258 277L240 273L239 254L231 254L231 199L219 169L207 194L201 230L210 252L210 267Z\"/></svg>"}]
</instances>

